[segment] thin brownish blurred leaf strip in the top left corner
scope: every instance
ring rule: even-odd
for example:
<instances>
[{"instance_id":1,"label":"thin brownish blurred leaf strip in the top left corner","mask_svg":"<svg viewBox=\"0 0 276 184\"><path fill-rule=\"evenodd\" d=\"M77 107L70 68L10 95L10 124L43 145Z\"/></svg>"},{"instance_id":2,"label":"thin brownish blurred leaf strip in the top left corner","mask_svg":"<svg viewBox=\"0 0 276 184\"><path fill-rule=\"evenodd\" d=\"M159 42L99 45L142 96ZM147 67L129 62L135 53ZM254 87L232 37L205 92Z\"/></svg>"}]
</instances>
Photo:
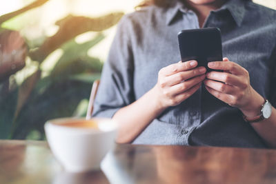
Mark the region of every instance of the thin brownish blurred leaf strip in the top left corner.
<instances>
[{"instance_id":1,"label":"thin brownish blurred leaf strip in the top left corner","mask_svg":"<svg viewBox=\"0 0 276 184\"><path fill-rule=\"evenodd\" d=\"M42 6L44 3L46 3L49 0L37 0L34 1L33 3L30 3L28 6L25 6L24 8L21 8L19 10L16 10L14 12L10 12L8 14L3 14L0 16L0 25L5 22L8 21L9 19L12 19L13 17L16 17L19 14L22 14L23 12L26 12L28 10L31 10L33 8L37 8L39 6Z\"/></svg>"}]
</instances>

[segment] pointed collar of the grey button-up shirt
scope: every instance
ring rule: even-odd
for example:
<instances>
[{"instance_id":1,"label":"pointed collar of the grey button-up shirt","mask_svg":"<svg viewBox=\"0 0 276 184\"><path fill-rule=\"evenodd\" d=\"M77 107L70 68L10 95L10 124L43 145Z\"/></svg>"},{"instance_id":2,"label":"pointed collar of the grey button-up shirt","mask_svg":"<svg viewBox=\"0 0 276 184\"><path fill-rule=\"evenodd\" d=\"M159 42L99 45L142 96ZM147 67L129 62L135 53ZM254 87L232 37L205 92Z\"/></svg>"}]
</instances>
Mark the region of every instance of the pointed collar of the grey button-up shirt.
<instances>
[{"instance_id":1,"label":"pointed collar of the grey button-up shirt","mask_svg":"<svg viewBox=\"0 0 276 184\"><path fill-rule=\"evenodd\" d=\"M228 10L237 25L240 26L242 25L244 14L246 12L245 1L248 0L228 0L221 8L215 10L214 12ZM166 12L166 25L170 25L179 12L187 13L188 11L191 11L188 10L188 8L184 6L184 3L181 3L180 1L175 1L174 3L175 4Z\"/></svg>"}]
</instances>

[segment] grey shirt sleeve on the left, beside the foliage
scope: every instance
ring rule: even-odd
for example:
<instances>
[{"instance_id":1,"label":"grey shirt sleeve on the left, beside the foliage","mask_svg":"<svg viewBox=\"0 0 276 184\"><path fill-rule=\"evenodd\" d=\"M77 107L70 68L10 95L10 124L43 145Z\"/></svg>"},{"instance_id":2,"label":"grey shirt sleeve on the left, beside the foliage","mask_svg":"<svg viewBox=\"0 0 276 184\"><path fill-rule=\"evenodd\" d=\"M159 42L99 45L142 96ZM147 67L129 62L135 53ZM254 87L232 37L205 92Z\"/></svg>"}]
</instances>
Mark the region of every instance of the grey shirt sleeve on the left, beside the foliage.
<instances>
[{"instance_id":1,"label":"grey shirt sleeve on the left, beside the foliage","mask_svg":"<svg viewBox=\"0 0 276 184\"><path fill-rule=\"evenodd\" d=\"M92 116L111 118L117 110L135 101L133 57L130 45L131 21L124 16L118 23L108 59L103 65Z\"/></svg>"}]
</instances>

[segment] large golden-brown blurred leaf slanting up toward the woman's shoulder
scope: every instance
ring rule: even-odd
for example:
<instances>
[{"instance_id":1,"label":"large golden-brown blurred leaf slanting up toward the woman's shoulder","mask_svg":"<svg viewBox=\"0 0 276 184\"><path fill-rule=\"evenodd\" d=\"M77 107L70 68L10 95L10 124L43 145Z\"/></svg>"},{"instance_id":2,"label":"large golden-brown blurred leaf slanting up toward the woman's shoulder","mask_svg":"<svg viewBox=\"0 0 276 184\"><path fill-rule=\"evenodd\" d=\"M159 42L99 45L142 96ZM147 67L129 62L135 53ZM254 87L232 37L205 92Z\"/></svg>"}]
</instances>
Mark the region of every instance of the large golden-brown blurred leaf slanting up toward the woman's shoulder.
<instances>
[{"instance_id":1,"label":"large golden-brown blurred leaf slanting up toward the woman's shoulder","mask_svg":"<svg viewBox=\"0 0 276 184\"><path fill-rule=\"evenodd\" d=\"M68 17L57 21L59 25L58 32L46 39L46 41L37 49L30 52L33 61L42 62L48 54L59 48L63 43L77 37L77 35L88 31L100 32L115 25L124 15L122 12L107 14L103 17L76 17L68 15Z\"/></svg>"}]
</instances>

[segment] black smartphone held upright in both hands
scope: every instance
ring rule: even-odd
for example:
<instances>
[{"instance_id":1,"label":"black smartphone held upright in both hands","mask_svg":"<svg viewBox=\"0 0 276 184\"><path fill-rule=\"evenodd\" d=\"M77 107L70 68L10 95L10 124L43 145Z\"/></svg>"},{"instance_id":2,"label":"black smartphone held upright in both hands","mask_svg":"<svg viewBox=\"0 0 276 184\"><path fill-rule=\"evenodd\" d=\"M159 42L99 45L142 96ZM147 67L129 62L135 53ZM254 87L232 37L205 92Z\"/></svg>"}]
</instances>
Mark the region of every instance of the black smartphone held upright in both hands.
<instances>
[{"instance_id":1,"label":"black smartphone held upright in both hands","mask_svg":"<svg viewBox=\"0 0 276 184\"><path fill-rule=\"evenodd\" d=\"M221 33L219 28L181 30L178 33L181 61L196 60L207 72L210 61L222 61ZM215 70L222 72L221 70Z\"/></svg>"}]
</instances>

